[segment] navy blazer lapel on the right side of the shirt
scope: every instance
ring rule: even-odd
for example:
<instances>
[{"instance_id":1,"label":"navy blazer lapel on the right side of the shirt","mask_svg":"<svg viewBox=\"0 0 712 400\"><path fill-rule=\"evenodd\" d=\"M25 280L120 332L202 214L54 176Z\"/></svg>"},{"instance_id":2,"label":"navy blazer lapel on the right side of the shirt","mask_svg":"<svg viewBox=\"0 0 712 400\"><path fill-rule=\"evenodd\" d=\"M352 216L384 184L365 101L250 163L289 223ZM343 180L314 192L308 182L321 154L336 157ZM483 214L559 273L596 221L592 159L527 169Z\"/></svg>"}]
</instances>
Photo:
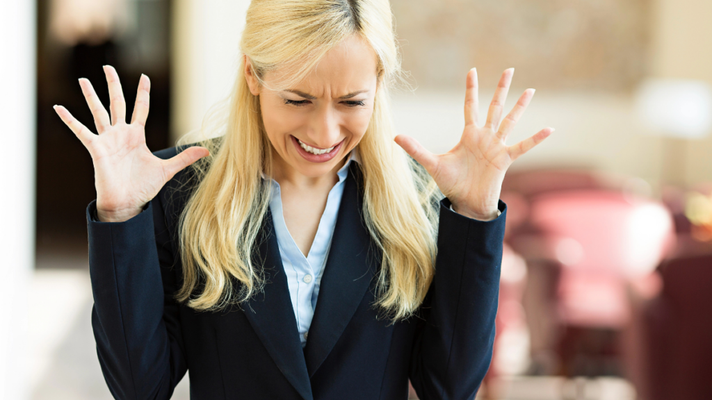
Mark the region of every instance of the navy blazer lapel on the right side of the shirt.
<instances>
[{"instance_id":1,"label":"navy blazer lapel on the right side of the shirt","mask_svg":"<svg viewBox=\"0 0 712 400\"><path fill-rule=\"evenodd\" d=\"M314 375L344 332L378 265L361 215L361 182L360 167L352 162L304 349L309 377Z\"/></svg>"}]
</instances>

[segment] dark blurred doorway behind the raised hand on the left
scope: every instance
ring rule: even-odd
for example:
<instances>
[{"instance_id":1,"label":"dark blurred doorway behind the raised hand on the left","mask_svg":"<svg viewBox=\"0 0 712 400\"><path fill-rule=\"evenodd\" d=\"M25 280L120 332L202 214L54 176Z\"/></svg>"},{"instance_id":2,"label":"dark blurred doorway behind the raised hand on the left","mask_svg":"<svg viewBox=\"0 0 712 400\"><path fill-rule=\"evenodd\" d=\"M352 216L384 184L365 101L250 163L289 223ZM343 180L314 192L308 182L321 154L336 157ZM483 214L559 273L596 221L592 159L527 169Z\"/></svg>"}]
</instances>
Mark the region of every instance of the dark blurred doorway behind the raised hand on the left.
<instances>
[{"instance_id":1,"label":"dark blurred doorway behind the raised hand on the left","mask_svg":"<svg viewBox=\"0 0 712 400\"><path fill-rule=\"evenodd\" d=\"M63 10L72 1L38 0L37 204L38 268L86 268L85 209L95 199L88 151L61 122L59 104L95 132L78 78L88 78L105 107L109 99L102 66L113 65L122 81L127 117L142 73L151 79L148 147L169 145L170 1L125 0L106 14ZM114 13L114 14L111 14ZM99 16L97 16L99 15Z\"/></svg>"}]
</instances>

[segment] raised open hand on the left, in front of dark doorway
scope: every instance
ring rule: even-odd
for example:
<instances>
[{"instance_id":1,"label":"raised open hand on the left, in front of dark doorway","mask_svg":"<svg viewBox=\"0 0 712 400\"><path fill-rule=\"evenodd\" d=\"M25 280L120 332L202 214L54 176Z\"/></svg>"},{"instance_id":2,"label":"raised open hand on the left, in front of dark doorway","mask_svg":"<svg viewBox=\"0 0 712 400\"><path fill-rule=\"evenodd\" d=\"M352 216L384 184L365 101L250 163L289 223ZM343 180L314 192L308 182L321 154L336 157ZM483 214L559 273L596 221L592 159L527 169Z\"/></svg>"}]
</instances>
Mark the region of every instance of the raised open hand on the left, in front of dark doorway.
<instances>
[{"instance_id":1,"label":"raised open hand on the left, in front of dark doorway","mask_svg":"<svg viewBox=\"0 0 712 400\"><path fill-rule=\"evenodd\" d=\"M99 135L87 129L69 111L55 110L79 138L94 163L96 208L100 221L120 222L138 215L177 172L209 154L205 147L189 147L171 159L159 159L146 146L144 127L148 117L150 80L141 75L131 123L126 123L126 102L119 75L104 66L109 85L111 119L87 79L80 79L82 93L94 116Z\"/></svg>"}]
</instances>

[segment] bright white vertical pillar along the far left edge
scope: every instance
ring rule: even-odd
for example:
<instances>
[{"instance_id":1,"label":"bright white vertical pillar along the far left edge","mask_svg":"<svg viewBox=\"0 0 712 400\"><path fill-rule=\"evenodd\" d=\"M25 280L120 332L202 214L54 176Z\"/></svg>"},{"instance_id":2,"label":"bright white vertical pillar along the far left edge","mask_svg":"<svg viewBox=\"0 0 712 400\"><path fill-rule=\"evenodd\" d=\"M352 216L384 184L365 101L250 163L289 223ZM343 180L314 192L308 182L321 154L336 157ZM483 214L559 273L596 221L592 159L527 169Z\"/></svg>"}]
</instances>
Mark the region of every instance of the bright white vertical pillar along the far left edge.
<instances>
[{"instance_id":1,"label":"bright white vertical pillar along the far left edge","mask_svg":"<svg viewBox=\"0 0 712 400\"><path fill-rule=\"evenodd\" d=\"M0 2L0 399L28 398L28 283L34 268L35 1Z\"/></svg>"}]
</instances>

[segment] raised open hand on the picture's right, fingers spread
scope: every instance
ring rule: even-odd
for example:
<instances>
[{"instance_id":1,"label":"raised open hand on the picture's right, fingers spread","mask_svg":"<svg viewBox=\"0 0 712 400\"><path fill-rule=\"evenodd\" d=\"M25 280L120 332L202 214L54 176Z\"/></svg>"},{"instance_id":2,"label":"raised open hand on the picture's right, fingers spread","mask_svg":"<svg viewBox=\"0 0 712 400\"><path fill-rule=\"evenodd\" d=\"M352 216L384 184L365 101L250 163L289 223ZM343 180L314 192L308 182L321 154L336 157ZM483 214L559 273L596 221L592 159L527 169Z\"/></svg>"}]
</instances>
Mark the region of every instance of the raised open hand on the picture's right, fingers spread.
<instances>
[{"instance_id":1,"label":"raised open hand on the picture's right, fingers spread","mask_svg":"<svg viewBox=\"0 0 712 400\"><path fill-rule=\"evenodd\" d=\"M534 95L534 89L525 90L503 120L504 102L513 74L514 68L502 74L487 121L479 127L477 71L470 70L465 95L465 130L460 142L449 152L432 154L412 137L395 137L396 143L425 167L458 214L483 221L495 219L502 181L509 166L554 131L548 127L513 146L506 144L507 136Z\"/></svg>"}]
</instances>

